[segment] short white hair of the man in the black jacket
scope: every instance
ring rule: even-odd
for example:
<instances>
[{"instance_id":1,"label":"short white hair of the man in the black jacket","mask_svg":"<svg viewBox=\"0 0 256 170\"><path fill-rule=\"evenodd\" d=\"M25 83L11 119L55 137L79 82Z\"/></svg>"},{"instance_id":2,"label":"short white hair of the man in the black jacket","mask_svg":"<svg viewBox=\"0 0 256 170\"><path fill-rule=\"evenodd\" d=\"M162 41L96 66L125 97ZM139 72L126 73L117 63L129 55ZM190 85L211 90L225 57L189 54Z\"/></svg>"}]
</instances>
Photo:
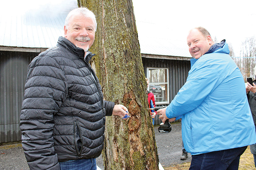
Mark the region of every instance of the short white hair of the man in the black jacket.
<instances>
[{"instance_id":1,"label":"short white hair of the man in the black jacket","mask_svg":"<svg viewBox=\"0 0 256 170\"><path fill-rule=\"evenodd\" d=\"M70 19L73 17L73 16L77 16L77 15L83 15L84 17L88 17L88 18L92 18L92 21L94 22L94 26L95 26L95 31L97 29L97 22L96 22L96 18L95 18L95 15L92 11L88 10L87 8L85 7L80 7L80 8L76 8L72 11L70 11L68 13L68 16L65 20L65 26L68 28L68 25L70 23Z\"/></svg>"}]
</instances>

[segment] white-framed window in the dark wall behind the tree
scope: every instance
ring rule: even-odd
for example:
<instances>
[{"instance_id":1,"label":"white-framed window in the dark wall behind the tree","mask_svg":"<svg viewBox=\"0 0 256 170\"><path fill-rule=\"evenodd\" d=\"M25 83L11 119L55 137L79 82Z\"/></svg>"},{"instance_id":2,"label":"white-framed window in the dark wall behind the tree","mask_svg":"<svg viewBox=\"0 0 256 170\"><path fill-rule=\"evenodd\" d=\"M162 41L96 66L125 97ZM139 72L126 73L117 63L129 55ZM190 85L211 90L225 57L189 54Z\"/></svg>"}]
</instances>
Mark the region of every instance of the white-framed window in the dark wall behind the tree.
<instances>
[{"instance_id":1,"label":"white-framed window in the dark wall behind the tree","mask_svg":"<svg viewBox=\"0 0 256 170\"><path fill-rule=\"evenodd\" d=\"M167 68L147 68L148 91L155 97L156 105L169 104L169 76Z\"/></svg>"}]
</instances>

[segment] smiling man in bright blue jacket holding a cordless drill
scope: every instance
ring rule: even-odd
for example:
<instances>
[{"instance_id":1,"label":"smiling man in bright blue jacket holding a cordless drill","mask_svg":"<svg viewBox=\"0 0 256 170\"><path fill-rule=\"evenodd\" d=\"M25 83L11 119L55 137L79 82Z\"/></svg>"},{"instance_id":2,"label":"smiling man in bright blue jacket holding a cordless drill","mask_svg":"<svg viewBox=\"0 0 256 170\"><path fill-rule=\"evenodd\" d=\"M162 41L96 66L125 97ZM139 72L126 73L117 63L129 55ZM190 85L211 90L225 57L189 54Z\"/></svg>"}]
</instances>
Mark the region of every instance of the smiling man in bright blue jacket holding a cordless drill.
<instances>
[{"instance_id":1,"label":"smiling man in bright blue jacket holding a cordless drill","mask_svg":"<svg viewBox=\"0 0 256 170\"><path fill-rule=\"evenodd\" d=\"M256 143L242 74L225 40L214 44L205 28L192 29L187 42L193 57L187 81L157 114L163 122L182 115L190 170L238 169L247 145Z\"/></svg>"}]
</instances>

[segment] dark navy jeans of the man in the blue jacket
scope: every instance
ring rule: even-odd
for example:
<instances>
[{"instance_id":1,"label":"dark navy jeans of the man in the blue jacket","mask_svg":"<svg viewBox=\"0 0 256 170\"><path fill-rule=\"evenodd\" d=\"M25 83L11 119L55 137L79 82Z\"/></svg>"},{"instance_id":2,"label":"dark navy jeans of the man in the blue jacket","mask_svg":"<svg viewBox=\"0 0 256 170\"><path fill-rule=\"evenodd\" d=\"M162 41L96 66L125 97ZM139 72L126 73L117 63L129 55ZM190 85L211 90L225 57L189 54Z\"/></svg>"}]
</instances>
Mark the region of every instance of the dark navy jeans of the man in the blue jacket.
<instances>
[{"instance_id":1,"label":"dark navy jeans of the man in the blue jacket","mask_svg":"<svg viewBox=\"0 0 256 170\"><path fill-rule=\"evenodd\" d=\"M247 146L192 155L189 170L237 170Z\"/></svg>"}]
</instances>

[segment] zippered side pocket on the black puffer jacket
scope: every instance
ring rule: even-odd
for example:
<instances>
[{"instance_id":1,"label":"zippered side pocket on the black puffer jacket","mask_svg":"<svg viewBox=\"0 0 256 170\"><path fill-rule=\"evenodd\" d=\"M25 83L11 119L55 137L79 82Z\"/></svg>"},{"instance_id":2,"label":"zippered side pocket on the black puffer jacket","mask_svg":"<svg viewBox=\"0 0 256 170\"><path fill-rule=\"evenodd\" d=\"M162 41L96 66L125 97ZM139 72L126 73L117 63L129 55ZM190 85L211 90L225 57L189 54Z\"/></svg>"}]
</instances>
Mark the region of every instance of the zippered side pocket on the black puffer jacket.
<instances>
[{"instance_id":1,"label":"zippered side pocket on the black puffer jacket","mask_svg":"<svg viewBox=\"0 0 256 170\"><path fill-rule=\"evenodd\" d=\"M83 140L81 135L81 129L77 121L74 122L74 144L76 147L77 158L81 158L81 152L83 149Z\"/></svg>"}]
</instances>

